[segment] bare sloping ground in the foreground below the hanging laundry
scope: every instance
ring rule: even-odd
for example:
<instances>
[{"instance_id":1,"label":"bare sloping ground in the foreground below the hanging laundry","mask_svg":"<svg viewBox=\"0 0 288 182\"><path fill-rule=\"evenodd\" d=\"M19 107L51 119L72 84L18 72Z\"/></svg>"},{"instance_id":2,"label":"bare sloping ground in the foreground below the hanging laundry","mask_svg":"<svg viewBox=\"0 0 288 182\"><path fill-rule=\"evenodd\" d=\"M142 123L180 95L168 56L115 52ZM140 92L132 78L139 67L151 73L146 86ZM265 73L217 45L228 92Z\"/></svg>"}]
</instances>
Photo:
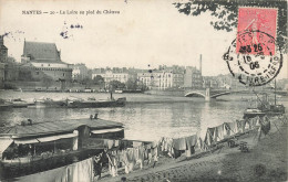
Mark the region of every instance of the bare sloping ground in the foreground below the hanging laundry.
<instances>
[{"instance_id":1,"label":"bare sloping ground in the foreground below the hanging laundry","mask_svg":"<svg viewBox=\"0 0 288 182\"><path fill-rule=\"evenodd\" d=\"M277 126L277 127L276 127ZM279 128L279 131L278 129ZM223 148L195 159L160 158L155 168L146 167L130 174L109 174L100 181L286 181L287 180L287 122L271 122L270 132L256 139L256 131L238 138L246 141L249 151L241 152L224 144Z\"/></svg>"}]
</instances>

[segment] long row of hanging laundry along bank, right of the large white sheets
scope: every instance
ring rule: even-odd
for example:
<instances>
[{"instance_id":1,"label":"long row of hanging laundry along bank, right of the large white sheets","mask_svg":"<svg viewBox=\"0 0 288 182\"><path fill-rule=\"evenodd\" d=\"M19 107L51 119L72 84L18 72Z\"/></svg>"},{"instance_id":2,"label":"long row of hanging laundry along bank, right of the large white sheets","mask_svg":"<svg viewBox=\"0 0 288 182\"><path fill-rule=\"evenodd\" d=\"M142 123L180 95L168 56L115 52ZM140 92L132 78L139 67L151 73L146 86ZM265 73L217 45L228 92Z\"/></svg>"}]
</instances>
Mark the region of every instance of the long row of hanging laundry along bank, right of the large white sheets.
<instances>
[{"instance_id":1,"label":"long row of hanging laundry along bank, right of the large white sheets","mask_svg":"<svg viewBox=\"0 0 288 182\"><path fill-rule=\"evenodd\" d=\"M125 173L134 170L140 164L143 168L144 161L150 164L154 161L153 167L157 162L160 154L178 158L186 152L186 157L191 157L196 150L207 151L218 142L226 141L228 138L245 133L249 130L260 128L266 135L270 127L270 121L264 118L250 118L247 120L236 120L234 122L224 122L219 126L207 128L205 138L198 133L182 137L167 138L162 137L158 141L142 142L138 140L103 140L103 147L107 149L107 164L112 176L117 175L117 168L124 165Z\"/></svg>"}]
</instances>

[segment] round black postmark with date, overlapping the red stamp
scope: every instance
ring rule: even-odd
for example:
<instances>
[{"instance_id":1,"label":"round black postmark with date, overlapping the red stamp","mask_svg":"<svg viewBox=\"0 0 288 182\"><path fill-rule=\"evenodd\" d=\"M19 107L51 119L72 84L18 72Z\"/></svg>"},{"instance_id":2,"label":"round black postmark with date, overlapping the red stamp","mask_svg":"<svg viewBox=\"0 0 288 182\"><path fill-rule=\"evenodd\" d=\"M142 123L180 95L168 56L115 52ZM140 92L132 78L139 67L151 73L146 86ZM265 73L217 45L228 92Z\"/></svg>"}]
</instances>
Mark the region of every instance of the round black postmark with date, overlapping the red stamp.
<instances>
[{"instance_id":1,"label":"round black postmark with date, overlapping the red stamp","mask_svg":"<svg viewBox=\"0 0 288 182\"><path fill-rule=\"evenodd\" d=\"M269 83L282 66L282 54L276 46L275 39L261 31L238 34L223 58L232 75L246 86Z\"/></svg>"}]
</instances>

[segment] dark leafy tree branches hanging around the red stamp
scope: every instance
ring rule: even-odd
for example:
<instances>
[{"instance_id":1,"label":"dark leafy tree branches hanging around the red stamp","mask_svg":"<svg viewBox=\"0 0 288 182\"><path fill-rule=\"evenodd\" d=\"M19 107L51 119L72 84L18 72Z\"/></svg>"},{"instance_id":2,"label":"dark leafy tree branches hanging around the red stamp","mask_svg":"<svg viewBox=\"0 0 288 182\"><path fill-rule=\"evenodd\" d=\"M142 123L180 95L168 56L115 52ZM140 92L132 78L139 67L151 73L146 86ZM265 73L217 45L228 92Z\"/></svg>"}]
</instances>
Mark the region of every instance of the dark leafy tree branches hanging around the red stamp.
<instances>
[{"instance_id":1,"label":"dark leafy tree branches hanging around the red stamp","mask_svg":"<svg viewBox=\"0 0 288 182\"><path fill-rule=\"evenodd\" d=\"M178 9L179 13L186 15L199 15L200 13L209 11L210 15L218 19L210 21L214 29L225 30L227 32L230 32L237 26L239 7L277 8L277 42L280 51L287 52L287 2L285 0L188 0L187 2L175 2L173 4Z\"/></svg>"}]
</instances>

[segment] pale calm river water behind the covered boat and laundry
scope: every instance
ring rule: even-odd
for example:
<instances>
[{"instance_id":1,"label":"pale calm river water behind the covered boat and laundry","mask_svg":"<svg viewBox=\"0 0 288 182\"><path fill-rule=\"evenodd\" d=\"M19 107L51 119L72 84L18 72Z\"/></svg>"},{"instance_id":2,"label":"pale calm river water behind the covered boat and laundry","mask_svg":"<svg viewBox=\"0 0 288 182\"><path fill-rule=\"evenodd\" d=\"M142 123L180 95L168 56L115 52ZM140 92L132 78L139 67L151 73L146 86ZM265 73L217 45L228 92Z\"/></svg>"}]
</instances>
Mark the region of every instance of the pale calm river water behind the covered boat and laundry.
<instances>
[{"instance_id":1,"label":"pale calm river water behind the covered boat and laundry","mask_svg":"<svg viewBox=\"0 0 288 182\"><path fill-rule=\"evenodd\" d=\"M1 98L34 98L50 97L53 99L65 97L107 98L107 94L79 94L79 93L20 93L1 92ZM0 110L0 125L12 126L21 120L31 118L33 121L56 121L71 118L89 118L90 115L99 114L99 118L123 122L125 125L125 138L135 140L153 141L160 137L185 137L198 132L203 136L207 127L214 127L223 122L241 119L249 101L233 99L237 96L224 97L226 101L205 103L203 98L162 97L144 94L119 94L117 97L126 97L125 107L115 108L13 108ZM238 96L239 97L239 96ZM251 98L253 96L247 96ZM243 98L243 96L241 96ZM148 104L147 100L164 100L163 103ZM177 100L167 103L165 100ZM181 103L179 100L186 100ZM280 101L279 101L280 103Z\"/></svg>"}]
</instances>

